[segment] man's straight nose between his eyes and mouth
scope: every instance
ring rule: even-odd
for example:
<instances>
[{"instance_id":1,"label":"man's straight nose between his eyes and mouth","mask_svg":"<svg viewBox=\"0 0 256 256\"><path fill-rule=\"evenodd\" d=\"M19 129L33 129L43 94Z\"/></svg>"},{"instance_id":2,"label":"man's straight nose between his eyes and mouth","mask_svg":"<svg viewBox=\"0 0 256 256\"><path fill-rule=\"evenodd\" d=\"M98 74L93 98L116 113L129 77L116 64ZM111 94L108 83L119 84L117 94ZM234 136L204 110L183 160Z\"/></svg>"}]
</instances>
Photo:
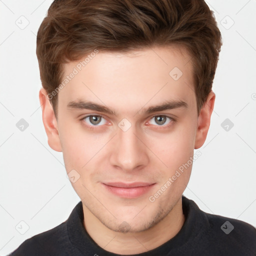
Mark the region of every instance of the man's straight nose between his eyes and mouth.
<instances>
[{"instance_id":1,"label":"man's straight nose between his eyes and mouth","mask_svg":"<svg viewBox=\"0 0 256 256\"><path fill-rule=\"evenodd\" d=\"M135 125L126 131L117 127L117 134L112 141L110 164L123 171L133 171L146 166L148 162L148 148L142 132L137 131Z\"/></svg>"}]
</instances>

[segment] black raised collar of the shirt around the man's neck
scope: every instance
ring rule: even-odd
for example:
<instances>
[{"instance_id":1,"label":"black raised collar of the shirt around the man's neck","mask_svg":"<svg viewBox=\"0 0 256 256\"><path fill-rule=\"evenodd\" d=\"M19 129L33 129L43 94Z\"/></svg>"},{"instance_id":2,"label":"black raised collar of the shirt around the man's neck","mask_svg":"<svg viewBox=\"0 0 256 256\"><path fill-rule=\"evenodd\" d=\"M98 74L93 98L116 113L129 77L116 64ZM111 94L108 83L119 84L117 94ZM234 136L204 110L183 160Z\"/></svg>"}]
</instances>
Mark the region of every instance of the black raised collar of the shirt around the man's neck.
<instances>
[{"instance_id":1,"label":"black raised collar of the shirt around the man's neck","mask_svg":"<svg viewBox=\"0 0 256 256\"><path fill-rule=\"evenodd\" d=\"M132 254L132 256L163 255L163 253L166 254L166 251L176 251L175 249L178 247L189 244L193 246L193 238L202 229L208 229L209 223L205 213L198 208L193 200L186 198L184 195L182 195L182 210L185 216L185 222L174 237L157 248L139 254ZM79 201L67 219L67 231L71 243L84 255L119 256L120 254L106 251L97 245L84 228L83 218L82 202Z\"/></svg>"}]
</instances>

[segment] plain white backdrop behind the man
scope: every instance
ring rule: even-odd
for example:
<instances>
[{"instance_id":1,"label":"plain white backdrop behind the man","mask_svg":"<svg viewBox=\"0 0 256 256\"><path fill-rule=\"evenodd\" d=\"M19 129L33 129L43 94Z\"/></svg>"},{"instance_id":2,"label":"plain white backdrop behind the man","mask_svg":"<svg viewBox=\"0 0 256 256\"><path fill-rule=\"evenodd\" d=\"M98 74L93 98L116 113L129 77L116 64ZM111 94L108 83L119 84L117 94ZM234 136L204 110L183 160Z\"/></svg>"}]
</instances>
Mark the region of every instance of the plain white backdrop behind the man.
<instances>
[{"instance_id":1,"label":"plain white backdrop behind the man","mask_svg":"<svg viewBox=\"0 0 256 256\"><path fill-rule=\"evenodd\" d=\"M50 3L0 0L0 255L66 220L79 201L62 153L47 144L38 99L36 33ZM256 0L207 3L223 46L211 126L184 195L206 212L256 226ZM29 21L24 29L15 23L21 15L23 25ZM21 118L24 131L16 127ZM234 124L228 131L220 125L226 118ZM29 226L24 234L15 229L25 231L21 220Z\"/></svg>"}]
</instances>

